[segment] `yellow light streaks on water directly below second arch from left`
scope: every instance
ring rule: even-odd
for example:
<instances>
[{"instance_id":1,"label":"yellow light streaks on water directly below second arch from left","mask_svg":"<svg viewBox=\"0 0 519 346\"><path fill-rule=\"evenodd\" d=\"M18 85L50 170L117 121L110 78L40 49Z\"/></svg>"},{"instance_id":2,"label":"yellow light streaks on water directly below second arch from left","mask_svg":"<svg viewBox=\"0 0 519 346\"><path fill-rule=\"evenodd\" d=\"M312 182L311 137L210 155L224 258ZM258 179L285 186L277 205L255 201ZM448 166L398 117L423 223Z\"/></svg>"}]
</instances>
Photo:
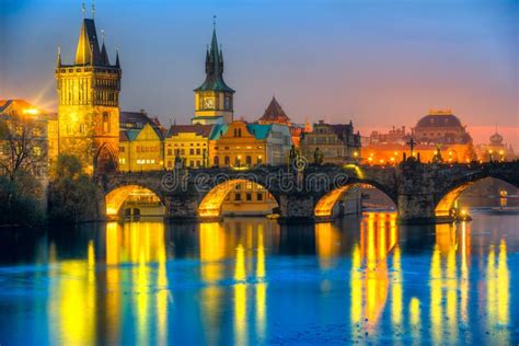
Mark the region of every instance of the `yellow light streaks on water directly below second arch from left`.
<instances>
[{"instance_id":1,"label":"yellow light streaks on water directly below second arch from left","mask_svg":"<svg viewBox=\"0 0 519 346\"><path fill-rule=\"evenodd\" d=\"M250 335L254 335L255 341L265 341L265 222L243 222L246 224L244 230L241 221L199 224L201 278L207 285L201 291L204 330L212 333L206 335L208 344L218 344L223 339L219 330L221 309L227 307L220 307L220 303L224 301L227 288L220 286L219 281L226 279L226 268L230 264L224 260L233 260L231 289L234 344L247 344ZM250 324L250 321L254 321L254 324Z\"/></svg>"}]
</instances>

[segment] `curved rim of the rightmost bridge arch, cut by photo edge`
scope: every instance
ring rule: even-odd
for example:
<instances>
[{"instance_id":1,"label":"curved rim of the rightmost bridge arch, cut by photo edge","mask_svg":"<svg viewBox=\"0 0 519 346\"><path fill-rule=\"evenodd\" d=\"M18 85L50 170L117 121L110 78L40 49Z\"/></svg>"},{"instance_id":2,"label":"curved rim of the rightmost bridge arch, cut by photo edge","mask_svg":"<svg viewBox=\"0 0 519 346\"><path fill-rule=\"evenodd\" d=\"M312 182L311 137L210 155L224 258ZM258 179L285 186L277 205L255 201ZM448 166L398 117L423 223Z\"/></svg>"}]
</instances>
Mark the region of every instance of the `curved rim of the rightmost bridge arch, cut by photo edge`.
<instances>
[{"instance_id":1,"label":"curved rim of the rightmost bridge arch, cut by photo edge","mask_svg":"<svg viewBox=\"0 0 519 346\"><path fill-rule=\"evenodd\" d=\"M451 209L454 207L455 200L461 196L461 194L470 186L487 177L503 181L519 188L519 184L508 180L505 176L488 171L481 171L462 178L454 180L448 185L447 188L441 191L437 197L435 215L437 217L449 216Z\"/></svg>"}]
</instances>

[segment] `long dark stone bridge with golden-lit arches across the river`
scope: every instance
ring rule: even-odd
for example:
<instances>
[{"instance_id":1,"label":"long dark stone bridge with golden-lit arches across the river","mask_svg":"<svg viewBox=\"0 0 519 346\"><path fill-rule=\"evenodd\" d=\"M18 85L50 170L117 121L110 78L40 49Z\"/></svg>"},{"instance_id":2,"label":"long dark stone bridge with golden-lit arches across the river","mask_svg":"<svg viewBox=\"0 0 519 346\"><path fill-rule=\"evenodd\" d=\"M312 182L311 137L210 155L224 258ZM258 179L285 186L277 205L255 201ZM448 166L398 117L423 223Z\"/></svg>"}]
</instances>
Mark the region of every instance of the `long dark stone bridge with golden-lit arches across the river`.
<instances>
[{"instance_id":1,"label":"long dark stone bridge with golden-lit arches across the river","mask_svg":"<svg viewBox=\"0 0 519 346\"><path fill-rule=\"evenodd\" d=\"M302 221L334 217L339 198L357 184L369 184L388 195L403 223L448 221L460 194L473 183L494 177L519 186L519 162L423 164L397 166L354 164L309 165L301 170L263 166L238 171L197 169L97 176L102 215L115 218L136 187L153 192L171 220L214 219L227 194L239 183L263 186L277 200L280 220Z\"/></svg>"}]
</instances>

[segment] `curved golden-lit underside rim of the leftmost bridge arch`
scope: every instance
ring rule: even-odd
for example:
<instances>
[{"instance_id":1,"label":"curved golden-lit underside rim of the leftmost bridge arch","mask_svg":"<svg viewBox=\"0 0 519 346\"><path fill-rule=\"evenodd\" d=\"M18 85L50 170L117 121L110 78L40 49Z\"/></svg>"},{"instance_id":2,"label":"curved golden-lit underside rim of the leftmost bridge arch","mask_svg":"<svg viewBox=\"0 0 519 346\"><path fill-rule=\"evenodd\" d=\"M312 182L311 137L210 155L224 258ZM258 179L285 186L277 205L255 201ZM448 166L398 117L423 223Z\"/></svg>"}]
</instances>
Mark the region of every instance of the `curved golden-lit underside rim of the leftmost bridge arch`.
<instances>
[{"instance_id":1,"label":"curved golden-lit underside rim of the leftmost bridge arch","mask_svg":"<svg viewBox=\"0 0 519 346\"><path fill-rule=\"evenodd\" d=\"M160 200L160 204L165 207L165 200L162 195L154 189L139 184L124 184L113 187L105 194L106 217L108 219L116 219L119 216L120 207L130 196L151 196L152 199ZM153 198L154 196L154 198Z\"/></svg>"}]
</instances>

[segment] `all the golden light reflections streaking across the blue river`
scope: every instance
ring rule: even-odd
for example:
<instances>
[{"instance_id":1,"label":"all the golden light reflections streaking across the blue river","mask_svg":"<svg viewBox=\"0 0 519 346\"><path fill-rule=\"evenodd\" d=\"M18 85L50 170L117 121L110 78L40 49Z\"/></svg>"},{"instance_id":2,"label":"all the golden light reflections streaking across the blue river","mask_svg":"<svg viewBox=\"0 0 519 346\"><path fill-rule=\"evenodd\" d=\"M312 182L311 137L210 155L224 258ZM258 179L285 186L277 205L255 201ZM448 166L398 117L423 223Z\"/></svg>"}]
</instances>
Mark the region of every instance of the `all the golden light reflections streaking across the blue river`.
<instances>
[{"instance_id":1,"label":"all the golden light reflections streaking across the blue river","mask_svg":"<svg viewBox=\"0 0 519 346\"><path fill-rule=\"evenodd\" d=\"M455 344L468 335L481 335L481 328L493 331L486 336L488 343L496 337L504 344L511 342L506 238L491 234L475 247L471 223L436 226L424 245L426 257L420 255L426 260L418 267L425 273L407 276L405 270L415 267L399 242L394 214L368 214L351 231L337 223L318 223L313 231L319 270L341 268L342 256L351 258L344 291L349 295L345 322L351 338L389 328L392 335L412 335L416 345L420 337ZM279 226L266 220L200 223L189 234L196 240L192 256L199 256L204 285L197 293L200 336L208 344L224 339L222 319L230 309L233 343L267 342L267 320L276 313L267 309L273 285L267 251L276 254L281 246ZM426 234L426 243L425 239ZM130 314L139 344L169 344L175 333L170 282L175 270L166 266L174 254L168 253L164 224L111 222L102 241L104 246L93 239L85 242L82 260L61 260L57 245L49 244L49 275L59 277L49 287L47 314L55 322L49 324L50 339L91 344L103 334L120 343L123 321ZM475 252L478 255L473 258ZM471 281L471 268L477 267L484 273ZM222 285L229 279L229 286ZM408 285L412 280L423 280L417 284L419 292ZM484 315L483 320L477 315Z\"/></svg>"}]
</instances>

